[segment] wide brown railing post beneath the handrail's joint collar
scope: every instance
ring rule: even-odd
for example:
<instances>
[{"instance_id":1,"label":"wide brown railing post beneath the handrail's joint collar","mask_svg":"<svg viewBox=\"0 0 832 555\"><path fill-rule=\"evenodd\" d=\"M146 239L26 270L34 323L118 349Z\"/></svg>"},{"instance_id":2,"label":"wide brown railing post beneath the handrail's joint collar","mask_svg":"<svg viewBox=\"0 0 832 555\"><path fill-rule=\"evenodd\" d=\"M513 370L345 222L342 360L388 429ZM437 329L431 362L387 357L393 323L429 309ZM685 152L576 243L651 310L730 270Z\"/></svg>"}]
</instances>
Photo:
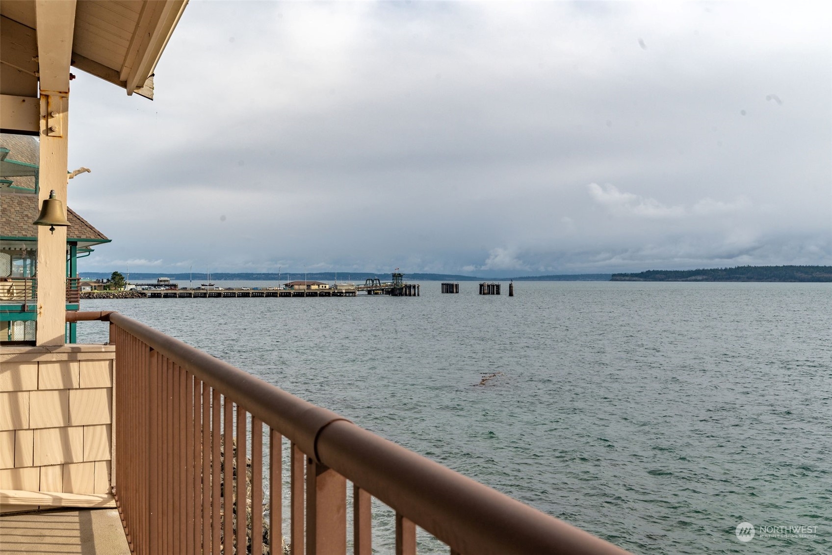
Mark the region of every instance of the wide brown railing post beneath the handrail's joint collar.
<instances>
[{"instance_id":1,"label":"wide brown railing post beneath the handrail's joint collar","mask_svg":"<svg viewBox=\"0 0 832 555\"><path fill-rule=\"evenodd\" d=\"M306 548L347 553L347 481L311 457L306 460Z\"/></svg>"}]
</instances>

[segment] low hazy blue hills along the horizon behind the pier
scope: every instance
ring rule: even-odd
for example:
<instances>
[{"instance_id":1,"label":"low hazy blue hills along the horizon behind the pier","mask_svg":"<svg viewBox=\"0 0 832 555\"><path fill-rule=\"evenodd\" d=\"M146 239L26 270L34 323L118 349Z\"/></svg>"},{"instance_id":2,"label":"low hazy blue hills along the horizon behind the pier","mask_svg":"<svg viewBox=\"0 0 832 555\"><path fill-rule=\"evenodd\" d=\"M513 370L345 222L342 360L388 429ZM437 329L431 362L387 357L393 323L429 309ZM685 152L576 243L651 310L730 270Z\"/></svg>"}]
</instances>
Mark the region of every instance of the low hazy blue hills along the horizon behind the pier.
<instances>
[{"instance_id":1,"label":"low hazy blue hills along the horizon behind the pier","mask_svg":"<svg viewBox=\"0 0 832 555\"><path fill-rule=\"evenodd\" d=\"M118 270L122 274L127 275L125 270ZM79 275L85 280L103 280L109 278L112 272L79 272ZM208 275L204 273L192 275L194 283L197 281L202 283L208 279ZM330 282L335 280L335 272L309 272L306 274L307 280ZM390 273L372 273L372 272L338 272L339 281L353 281L355 283L363 282L367 278L380 278L382 281L390 280ZM156 278L168 277L171 280L185 283L191 280L191 273L176 273L170 272L131 272L130 282L141 283L156 281ZM453 274L404 274L404 279L409 281L425 280L425 281L609 281L611 274L563 274L563 275L521 275L518 277L501 277L501 278L483 278L476 275L453 275ZM303 280L303 272L211 272L211 281L290 281Z\"/></svg>"}]
</instances>

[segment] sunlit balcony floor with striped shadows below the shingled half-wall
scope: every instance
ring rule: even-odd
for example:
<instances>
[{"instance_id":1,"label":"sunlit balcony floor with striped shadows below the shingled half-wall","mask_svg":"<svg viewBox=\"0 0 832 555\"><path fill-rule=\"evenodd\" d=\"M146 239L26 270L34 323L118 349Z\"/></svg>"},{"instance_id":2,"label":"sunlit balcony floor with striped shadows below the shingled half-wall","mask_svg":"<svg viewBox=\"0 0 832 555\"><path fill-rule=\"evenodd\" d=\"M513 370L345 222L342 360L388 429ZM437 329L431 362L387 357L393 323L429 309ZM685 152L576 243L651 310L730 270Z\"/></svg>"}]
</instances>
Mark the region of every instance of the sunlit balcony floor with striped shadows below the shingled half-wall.
<instances>
[{"instance_id":1,"label":"sunlit balcony floor with striped shadows below the shingled half-wall","mask_svg":"<svg viewBox=\"0 0 832 555\"><path fill-rule=\"evenodd\" d=\"M0 554L130 553L115 508L57 510L0 517Z\"/></svg>"}]
</instances>

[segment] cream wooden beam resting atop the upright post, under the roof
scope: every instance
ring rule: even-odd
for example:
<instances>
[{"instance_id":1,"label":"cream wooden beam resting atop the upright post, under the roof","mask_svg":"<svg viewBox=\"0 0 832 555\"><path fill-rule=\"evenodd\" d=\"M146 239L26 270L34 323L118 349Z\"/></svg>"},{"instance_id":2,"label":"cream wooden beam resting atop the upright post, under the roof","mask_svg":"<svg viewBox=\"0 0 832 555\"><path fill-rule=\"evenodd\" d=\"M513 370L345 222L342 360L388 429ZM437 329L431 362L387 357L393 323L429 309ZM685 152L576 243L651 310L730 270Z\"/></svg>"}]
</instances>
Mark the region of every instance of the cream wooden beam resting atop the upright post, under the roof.
<instances>
[{"instance_id":1,"label":"cream wooden beam resting atop the upright post, under the roof","mask_svg":"<svg viewBox=\"0 0 832 555\"><path fill-rule=\"evenodd\" d=\"M41 91L69 94L75 0L36 0L37 62Z\"/></svg>"}]
</instances>

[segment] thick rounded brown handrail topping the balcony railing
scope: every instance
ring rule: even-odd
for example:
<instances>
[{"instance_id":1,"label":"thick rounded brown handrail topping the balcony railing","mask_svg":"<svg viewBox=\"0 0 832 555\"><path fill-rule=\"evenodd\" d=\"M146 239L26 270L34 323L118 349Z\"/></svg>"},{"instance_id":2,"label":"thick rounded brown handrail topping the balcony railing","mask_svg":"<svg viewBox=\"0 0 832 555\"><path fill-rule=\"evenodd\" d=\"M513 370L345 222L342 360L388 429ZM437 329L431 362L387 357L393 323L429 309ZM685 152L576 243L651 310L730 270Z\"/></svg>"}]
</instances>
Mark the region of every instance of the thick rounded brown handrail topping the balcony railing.
<instances>
[{"instance_id":1,"label":"thick rounded brown handrail topping the balcony railing","mask_svg":"<svg viewBox=\"0 0 832 555\"><path fill-rule=\"evenodd\" d=\"M215 359L210 354L117 312L67 313L67 320L109 320L111 338L113 326L116 326L141 341L150 351L156 351L156 354L166 357L186 373L201 380L203 384L210 385L215 391L218 390L225 396L225 399L230 399L237 404L238 428L240 426L239 411L242 408L251 414L252 422L255 421L254 419L259 419L263 424L269 425L273 431L290 439L310 458L310 464L319 465L319 468L326 470L334 470L335 473L354 483L356 488L364 490L389 505L397 513L397 543L399 542L399 518L404 518L424 528L443 543L447 543L451 548L451 553L627 553L601 538L563 523L557 518L541 513L503 493L498 493L492 488L453 472L441 464L434 463L428 458L372 434L339 414L310 404L231 364ZM135 345L127 348L125 353L120 353L116 341L116 361L119 357L129 356L128 352L139 358L142 356L148 358L147 354L140 354L146 351L136 349ZM118 367L119 364L116 364L116 368ZM159 383L163 383L163 379L160 379ZM151 390L155 389L151 386ZM197 390L196 385L194 385L194 390ZM126 400L129 401L129 399ZM116 397L116 407L121 406L120 403L121 401ZM194 410L198 414L196 406ZM230 418L227 415L226 417ZM245 418L242 422L245 438ZM197 420L196 428L198 426ZM116 444L122 441L126 439L119 439L116 436ZM255 441L253 429L252 441ZM243 453L245 453L245 445ZM293 476L294 464L293 457ZM320 470L311 472L314 474ZM307 487L313 487L309 485L309 473L308 468ZM292 482L295 483L295 478ZM359 489L355 491L357 497ZM307 493L306 496L307 505L309 505L312 503L310 501L312 493ZM303 498L301 491L300 499ZM320 503L324 503L323 498ZM141 503L139 505L143 506ZM308 506L307 510L314 513L314 510L319 509ZM294 516L293 509L293 534ZM306 527L314 528L314 526L314 520L310 521L308 514ZM300 527L302 530L302 517ZM356 524L356 529L357 527ZM207 530L206 524L206 535ZM230 531L230 528L226 530ZM310 549L313 551L321 549L321 546L314 547L311 540L309 541ZM411 542L415 550L414 535L412 535ZM199 542L196 543L198 546ZM397 553L409 553L409 550L399 549L397 545Z\"/></svg>"}]
</instances>

